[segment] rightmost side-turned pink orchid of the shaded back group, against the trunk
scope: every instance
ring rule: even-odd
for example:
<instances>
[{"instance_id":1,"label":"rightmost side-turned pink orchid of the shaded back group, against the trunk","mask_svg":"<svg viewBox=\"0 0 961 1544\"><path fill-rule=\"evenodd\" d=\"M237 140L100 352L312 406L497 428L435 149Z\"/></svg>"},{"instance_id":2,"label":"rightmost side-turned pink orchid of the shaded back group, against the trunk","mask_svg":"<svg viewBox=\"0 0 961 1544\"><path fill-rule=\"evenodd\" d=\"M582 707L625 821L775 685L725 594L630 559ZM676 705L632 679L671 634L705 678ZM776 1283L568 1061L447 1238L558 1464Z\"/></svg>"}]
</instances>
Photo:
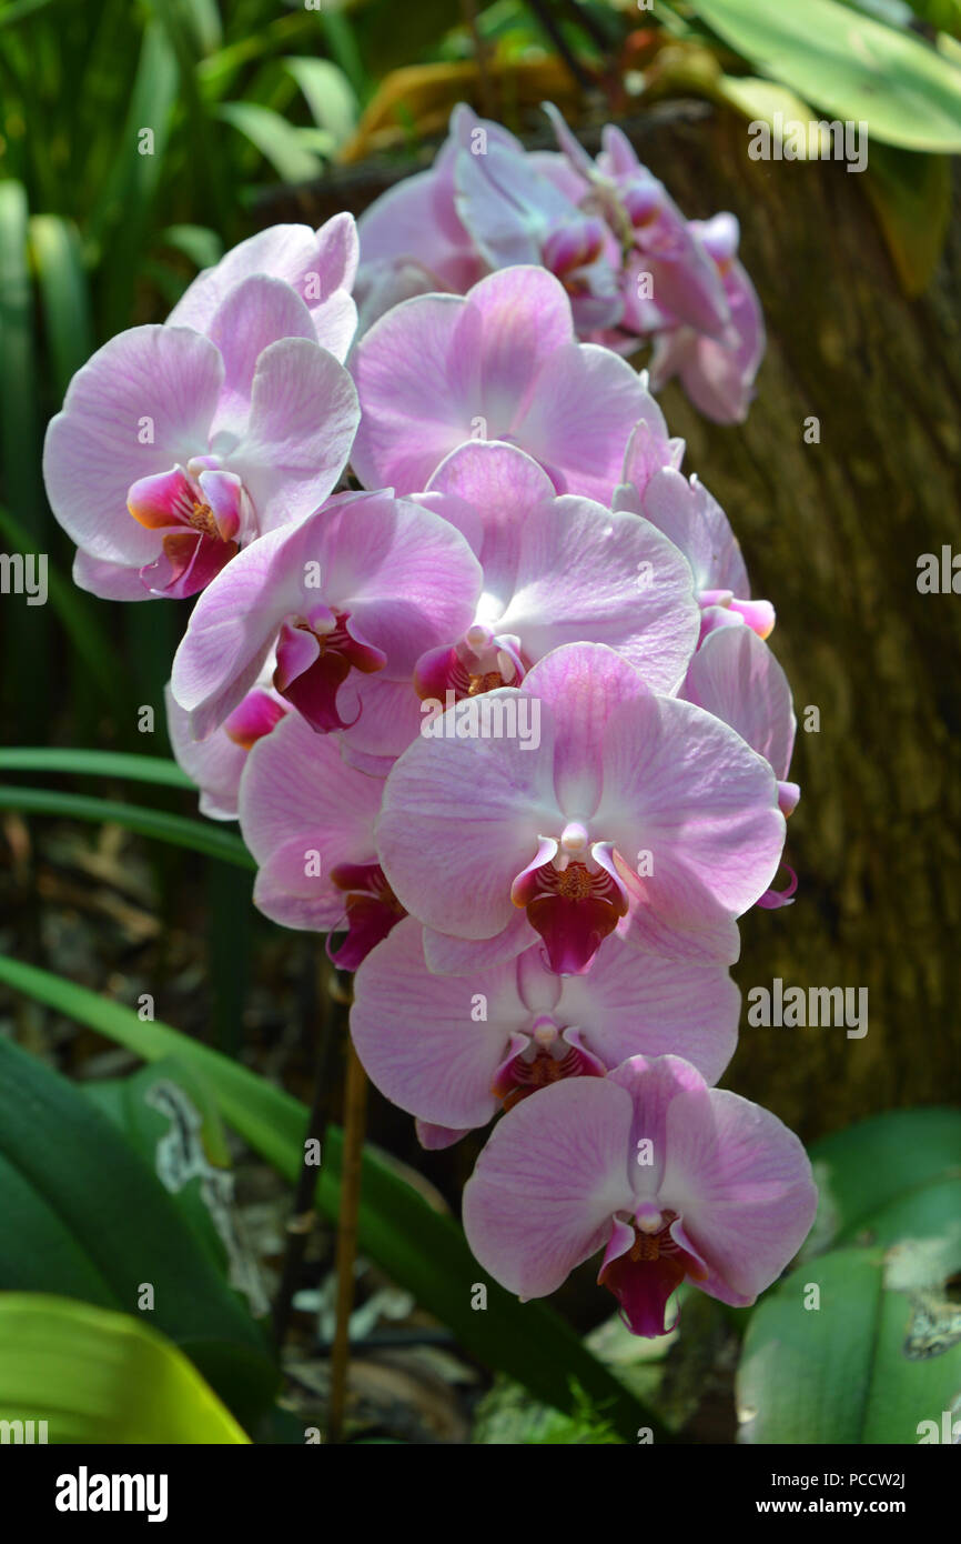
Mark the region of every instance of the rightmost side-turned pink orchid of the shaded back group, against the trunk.
<instances>
[{"instance_id":1,"label":"rightmost side-turned pink orchid of the shaded back group, against the trunk","mask_svg":"<svg viewBox=\"0 0 961 1544\"><path fill-rule=\"evenodd\" d=\"M744 423L754 398L754 377L765 349L764 312L754 286L737 261L737 221L733 215L691 221L705 250L717 266L728 303L730 321L720 337L710 337L676 321L654 340L651 378L654 389L680 377L680 383L705 418Z\"/></svg>"}]
</instances>

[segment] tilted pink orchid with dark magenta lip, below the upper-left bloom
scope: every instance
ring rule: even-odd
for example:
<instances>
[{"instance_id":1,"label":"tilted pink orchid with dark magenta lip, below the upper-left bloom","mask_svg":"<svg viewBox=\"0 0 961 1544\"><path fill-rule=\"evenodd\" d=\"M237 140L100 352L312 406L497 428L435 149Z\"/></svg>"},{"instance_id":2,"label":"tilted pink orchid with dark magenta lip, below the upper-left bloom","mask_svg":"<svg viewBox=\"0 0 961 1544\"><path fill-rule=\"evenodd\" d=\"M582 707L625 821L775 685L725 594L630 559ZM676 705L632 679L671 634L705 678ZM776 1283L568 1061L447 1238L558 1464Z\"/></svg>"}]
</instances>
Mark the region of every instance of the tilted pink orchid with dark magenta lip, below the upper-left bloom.
<instances>
[{"instance_id":1,"label":"tilted pink orchid with dark magenta lip, below the upper-left bloom","mask_svg":"<svg viewBox=\"0 0 961 1544\"><path fill-rule=\"evenodd\" d=\"M415 703L418 658L469 625L480 581L467 542L438 514L389 493L338 494L247 547L205 590L174 656L173 695L202 740L276 650L276 692L319 733L349 727L376 673Z\"/></svg>"}]
</instances>

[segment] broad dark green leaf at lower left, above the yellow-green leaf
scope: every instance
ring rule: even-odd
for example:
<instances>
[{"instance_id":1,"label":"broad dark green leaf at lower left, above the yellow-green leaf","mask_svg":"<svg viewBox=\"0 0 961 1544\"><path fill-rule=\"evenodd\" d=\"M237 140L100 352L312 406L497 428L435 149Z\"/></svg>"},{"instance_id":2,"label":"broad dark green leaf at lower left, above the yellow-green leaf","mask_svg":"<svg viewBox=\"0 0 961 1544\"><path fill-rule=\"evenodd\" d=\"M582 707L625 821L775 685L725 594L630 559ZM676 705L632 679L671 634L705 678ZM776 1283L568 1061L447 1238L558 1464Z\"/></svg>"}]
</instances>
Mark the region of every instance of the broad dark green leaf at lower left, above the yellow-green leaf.
<instances>
[{"instance_id":1,"label":"broad dark green leaf at lower left, above the yellow-green leaf","mask_svg":"<svg viewBox=\"0 0 961 1544\"><path fill-rule=\"evenodd\" d=\"M25 1187L35 1195L40 1215L25 1227L23 1206L0 1214L0 1288L85 1291L82 1280L56 1274L63 1251L52 1212L113 1306L134 1309L143 1283L153 1286L151 1322L234 1413L253 1419L270 1402L276 1374L262 1336L170 1194L89 1099L9 1041L0 1041L0 1158L20 1177L20 1200ZM57 1251L45 1252L45 1241Z\"/></svg>"}]
</instances>

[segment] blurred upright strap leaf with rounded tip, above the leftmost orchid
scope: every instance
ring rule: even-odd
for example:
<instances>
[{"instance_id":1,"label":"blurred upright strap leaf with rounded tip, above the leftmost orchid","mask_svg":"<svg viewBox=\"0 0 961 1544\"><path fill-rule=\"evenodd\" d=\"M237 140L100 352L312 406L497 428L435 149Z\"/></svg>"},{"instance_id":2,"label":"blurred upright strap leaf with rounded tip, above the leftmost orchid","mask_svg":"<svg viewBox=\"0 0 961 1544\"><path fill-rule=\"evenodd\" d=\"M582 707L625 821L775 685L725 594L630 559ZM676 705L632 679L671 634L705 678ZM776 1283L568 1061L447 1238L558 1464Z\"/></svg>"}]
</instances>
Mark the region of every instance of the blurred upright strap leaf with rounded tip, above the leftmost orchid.
<instances>
[{"instance_id":1,"label":"blurred upright strap leaf with rounded tip, above the leftmost orchid","mask_svg":"<svg viewBox=\"0 0 961 1544\"><path fill-rule=\"evenodd\" d=\"M43 326L57 395L94 352L89 287L76 227L59 215L34 215L29 245L40 283Z\"/></svg>"}]
</instances>

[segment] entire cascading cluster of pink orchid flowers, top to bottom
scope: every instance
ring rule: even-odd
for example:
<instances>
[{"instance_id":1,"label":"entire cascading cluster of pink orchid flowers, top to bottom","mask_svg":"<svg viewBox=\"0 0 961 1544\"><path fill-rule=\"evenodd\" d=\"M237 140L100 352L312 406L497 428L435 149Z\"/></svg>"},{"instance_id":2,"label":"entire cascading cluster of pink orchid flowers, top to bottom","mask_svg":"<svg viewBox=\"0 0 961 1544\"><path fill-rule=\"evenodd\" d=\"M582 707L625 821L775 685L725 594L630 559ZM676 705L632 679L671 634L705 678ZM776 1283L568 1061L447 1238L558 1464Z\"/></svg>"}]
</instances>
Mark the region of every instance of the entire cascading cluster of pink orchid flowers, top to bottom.
<instances>
[{"instance_id":1,"label":"entire cascading cluster of pink orchid flowers, top to bottom","mask_svg":"<svg viewBox=\"0 0 961 1544\"><path fill-rule=\"evenodd\" d=\"M196 598L174 753L261 911L356 971L372 1081L426 1147L497 1119L481 1266L526 1299L603 1249L656 1336L685 1280L751 1303L813 1220L797 1138L716 1089L737 919L790 900L794 715L773 608L611 346L652 337L736 415L736 233L555 125L528 156L458 108L359 278L349 215L242 242L79 371L45 474L79 585Z\"/></svg>"}]
</instances>

